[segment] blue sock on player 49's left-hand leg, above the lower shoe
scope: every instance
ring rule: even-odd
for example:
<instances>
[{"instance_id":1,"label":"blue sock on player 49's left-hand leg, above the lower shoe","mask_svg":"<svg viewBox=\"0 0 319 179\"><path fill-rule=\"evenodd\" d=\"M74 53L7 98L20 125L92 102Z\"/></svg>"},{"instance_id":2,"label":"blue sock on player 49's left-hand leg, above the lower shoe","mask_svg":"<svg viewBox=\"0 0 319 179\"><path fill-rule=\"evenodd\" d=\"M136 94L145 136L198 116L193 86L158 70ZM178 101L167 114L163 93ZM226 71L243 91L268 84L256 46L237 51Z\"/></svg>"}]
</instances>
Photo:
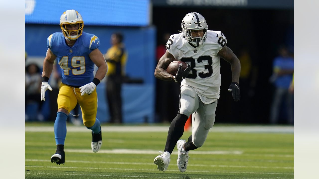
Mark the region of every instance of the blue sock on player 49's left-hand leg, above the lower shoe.
<instances>
[{"instance_id":1,"label":"blue sock on player 49's left-hand leg, above the lower shoe","mask_svg":"<svg viewBox=\"0 0 319 179\"><path fill-rule=\"evenodd\" d=\"M64 140L66 136L66 119L68 115L64 112L56 113L56 121L54 122L54 135L56 138L56 145L64 145Z\"/></svg>"}]
</instances>

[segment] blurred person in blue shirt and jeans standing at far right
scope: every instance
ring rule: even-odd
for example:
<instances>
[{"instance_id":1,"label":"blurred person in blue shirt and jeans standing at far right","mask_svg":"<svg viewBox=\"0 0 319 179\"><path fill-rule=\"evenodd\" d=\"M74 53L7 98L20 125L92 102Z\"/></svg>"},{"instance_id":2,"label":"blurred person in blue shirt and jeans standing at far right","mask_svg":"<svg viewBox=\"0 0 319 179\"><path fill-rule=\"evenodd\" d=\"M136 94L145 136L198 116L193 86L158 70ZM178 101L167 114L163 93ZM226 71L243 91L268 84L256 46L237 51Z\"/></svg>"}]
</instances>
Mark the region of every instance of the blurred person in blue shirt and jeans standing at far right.
<instances>
[{"instance_id":1,"label":"blurred person in blue shirt and jeans standing at far right","mask_svg":"<svg viewBox=\"0 0 319 179\"><path fill-rule=\"evenodd\" d=\"M286 46L280 46L278 49L279 56L273 61L273 74L270 82L275 87L275 93L271 105L270 122L277 124L282 110L282 103L286 106L286 120L293 124L293 95L288 92L290 83L293 78L293 58L289 55Z\"/></svg>"}]
</instances>

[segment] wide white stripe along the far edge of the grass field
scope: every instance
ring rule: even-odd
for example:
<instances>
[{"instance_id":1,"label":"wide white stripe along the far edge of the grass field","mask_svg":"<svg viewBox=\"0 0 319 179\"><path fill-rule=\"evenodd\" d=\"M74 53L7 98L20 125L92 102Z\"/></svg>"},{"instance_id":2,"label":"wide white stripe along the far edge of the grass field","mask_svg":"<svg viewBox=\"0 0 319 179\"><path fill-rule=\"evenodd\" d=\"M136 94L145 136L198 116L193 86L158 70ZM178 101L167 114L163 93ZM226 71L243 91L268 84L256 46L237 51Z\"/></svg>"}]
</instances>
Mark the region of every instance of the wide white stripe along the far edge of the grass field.
<instances>
[{"instance_id":1,"label":"wide white stripe along the far edge of the grass field","mask_svg":"<svg viewBox=\"0 0 319 179\"><path fill-rule=\"evenodd\" d=\"M101 126L103 132L167 132L169 126ZM25 132L54 132L54 127L26 126ZM68 132L88 132L84 126L68 126ZM278 132L293 133L293 126L216 126L210 132Z\"/></svg>"}]
</instances>

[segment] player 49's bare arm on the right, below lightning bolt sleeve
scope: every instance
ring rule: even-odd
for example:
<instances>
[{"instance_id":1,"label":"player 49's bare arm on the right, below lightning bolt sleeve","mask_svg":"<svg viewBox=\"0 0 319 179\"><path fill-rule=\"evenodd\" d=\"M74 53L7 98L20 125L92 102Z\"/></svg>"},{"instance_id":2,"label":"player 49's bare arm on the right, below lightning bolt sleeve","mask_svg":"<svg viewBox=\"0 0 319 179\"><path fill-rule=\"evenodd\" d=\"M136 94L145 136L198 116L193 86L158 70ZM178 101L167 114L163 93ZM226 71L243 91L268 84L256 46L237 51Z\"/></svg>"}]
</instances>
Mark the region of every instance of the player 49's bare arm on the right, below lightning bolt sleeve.
<instances>
[{"instance_id":1,"label":"player 49's bare arm on the right, below lightning bolt sleeve","mask_svg":"<svg viewBox=\"0 0 319 179\"><path fill-rule=\"evenodd\" d=\"M89 57L94 62L94 64L99 68L96 71L94 78L102 80L108 71L108 66L106 64L105 58L103 54L100 52L99 49L94 49L90 54Z\"/></svg>"}]
</instances>

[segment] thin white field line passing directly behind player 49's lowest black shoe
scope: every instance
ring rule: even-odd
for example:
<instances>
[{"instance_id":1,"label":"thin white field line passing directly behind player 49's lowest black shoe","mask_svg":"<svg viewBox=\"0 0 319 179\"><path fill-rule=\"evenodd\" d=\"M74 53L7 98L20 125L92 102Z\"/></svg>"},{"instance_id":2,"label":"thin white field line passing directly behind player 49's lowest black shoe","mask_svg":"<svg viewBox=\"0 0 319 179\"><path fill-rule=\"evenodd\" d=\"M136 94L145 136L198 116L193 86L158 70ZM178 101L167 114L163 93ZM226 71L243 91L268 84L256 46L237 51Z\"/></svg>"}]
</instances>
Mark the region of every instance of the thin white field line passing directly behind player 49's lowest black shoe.
<instances>
[{"instance_id":1,"label":"thin white field line passing directly behind player 49's lowest black shoe","mask_svg":"<svg viewBox=\"0 0 319 179\"><path fill-rule=\"evenodd\" d=\"M26 161L43 161L50 162L50 160L37 160L37 159L26 159ZM92 163L92 161L68 161L70 163ZM141 162L111 162L111 161L94 161L94 163L103 164L122 164L122 165L154 165L153 163L141 163ZM293 167L263 167L263 166L234 166L234 165L202 165L192 164L195 167L226 167L226 168L281 168L281 169L293 169ZM177 170L176 170L177 171ZM187 170L189 171L189 170ZM200 171L202 172L202 171Z\"/></svg>"}]
</instances>

